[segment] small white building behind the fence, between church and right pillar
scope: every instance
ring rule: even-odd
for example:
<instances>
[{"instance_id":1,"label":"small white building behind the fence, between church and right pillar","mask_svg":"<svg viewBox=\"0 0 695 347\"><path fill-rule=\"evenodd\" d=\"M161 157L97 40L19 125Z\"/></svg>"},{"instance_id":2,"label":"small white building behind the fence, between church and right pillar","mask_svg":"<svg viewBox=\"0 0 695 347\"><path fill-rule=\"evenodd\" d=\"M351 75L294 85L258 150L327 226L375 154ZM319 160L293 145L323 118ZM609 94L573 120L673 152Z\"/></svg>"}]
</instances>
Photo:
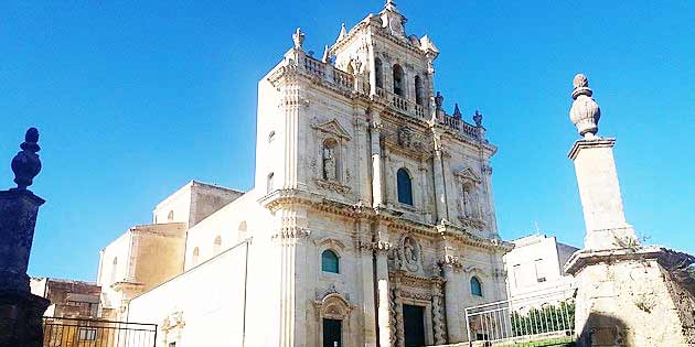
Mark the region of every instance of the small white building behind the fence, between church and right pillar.
<instances>
[{"instance_id":1,"label":"small white building behind the fence, between church and right pillar","mask_svg":"<svg viewBox=\"0 0 695 347\"><path fill-rule=\"evenodd\" d=\"M514 249L504 256L507 292L511 300L534 295L570 293L574 278L563 271L576 247L560 243L554 236L531 235L513 240Z\"/></svg>"}]
</instances>

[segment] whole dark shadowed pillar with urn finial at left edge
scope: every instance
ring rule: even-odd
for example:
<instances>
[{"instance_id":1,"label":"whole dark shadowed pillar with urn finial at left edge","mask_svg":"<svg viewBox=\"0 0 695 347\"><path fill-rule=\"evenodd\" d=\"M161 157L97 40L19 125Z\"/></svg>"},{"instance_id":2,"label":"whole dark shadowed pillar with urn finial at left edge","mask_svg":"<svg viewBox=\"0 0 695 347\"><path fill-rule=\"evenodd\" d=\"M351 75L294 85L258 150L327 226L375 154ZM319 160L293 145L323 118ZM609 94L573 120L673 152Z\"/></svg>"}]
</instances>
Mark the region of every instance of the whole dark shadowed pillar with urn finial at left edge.
<instances>
[{"instance_id":1,"label":"whole dark shadowed pillar with urn finial at left edge","mask_svg":"<svg viewBox=\"0 0 695 347\"><path fill-rule=\"evenodd\" d=\"M44 200L28 187L41 171L39 131L26 131L12 160L15 188L0 191L0 347L43 344L42 316L50 302L31 294L29 256L39 207Z\"/></svg>"}]
</instances>

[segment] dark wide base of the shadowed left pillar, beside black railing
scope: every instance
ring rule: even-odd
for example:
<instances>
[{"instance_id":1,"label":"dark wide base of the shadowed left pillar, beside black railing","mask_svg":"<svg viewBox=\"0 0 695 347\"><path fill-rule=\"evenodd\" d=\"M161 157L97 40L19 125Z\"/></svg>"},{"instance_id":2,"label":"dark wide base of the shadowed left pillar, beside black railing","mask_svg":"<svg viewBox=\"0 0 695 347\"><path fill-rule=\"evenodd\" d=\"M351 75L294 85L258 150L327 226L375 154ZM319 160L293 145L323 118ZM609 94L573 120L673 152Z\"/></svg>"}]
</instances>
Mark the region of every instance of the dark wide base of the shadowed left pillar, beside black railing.
<instances>
[{"instance_id":1,"label":"dark wide base of the shadowed left pillar, beside black railing","mask_svg":"<svg viewBox=\"0 0 695 347\"><path fill-rule=\"evenodd\" d=\"M0 292L0 347L43 346L43 313L51 302L31 293Z\"/></svg>"}]
</instances>

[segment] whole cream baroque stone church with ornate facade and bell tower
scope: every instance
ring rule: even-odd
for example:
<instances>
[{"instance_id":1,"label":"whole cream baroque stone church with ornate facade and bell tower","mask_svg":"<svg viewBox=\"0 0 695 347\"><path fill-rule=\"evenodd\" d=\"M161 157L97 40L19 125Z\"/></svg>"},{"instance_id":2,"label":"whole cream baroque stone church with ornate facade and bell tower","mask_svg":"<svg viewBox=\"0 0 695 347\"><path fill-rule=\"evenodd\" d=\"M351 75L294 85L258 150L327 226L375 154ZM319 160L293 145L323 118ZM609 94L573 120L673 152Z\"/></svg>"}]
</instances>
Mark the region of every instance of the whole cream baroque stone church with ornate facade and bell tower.
<instances>
[{"instance_id":1,"label":"whole cream baroque stone church with ornate facade and bell tower","mask_svg":"<svg viewBox=\"0 0 695 347\"><path fill-rule=\"evenodd\" d=\"M258 83L255 186L191 182L99 260L103 316L158 346L468 340L506 299L482 115L435 93L439 51L387 1L321 59L304 33ZM288 40L289 42L289 40Z\"/></svg>"}]
</instances>

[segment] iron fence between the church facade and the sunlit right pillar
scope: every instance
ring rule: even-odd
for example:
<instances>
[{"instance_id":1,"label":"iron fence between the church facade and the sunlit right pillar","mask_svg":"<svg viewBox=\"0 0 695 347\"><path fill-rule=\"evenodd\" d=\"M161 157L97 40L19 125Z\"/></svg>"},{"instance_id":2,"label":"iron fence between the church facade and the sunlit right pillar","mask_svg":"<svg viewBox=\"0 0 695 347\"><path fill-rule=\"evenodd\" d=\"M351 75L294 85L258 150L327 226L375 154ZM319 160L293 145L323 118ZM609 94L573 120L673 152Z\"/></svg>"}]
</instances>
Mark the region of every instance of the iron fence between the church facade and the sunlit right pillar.
<instances>
[{"instance_id":1,"label":"iron fence between the church facade and the sunlit right pillar","mask_svg":"<svg viewBox=\"0 0 695 347\"><path fill-rule=\"evenodd\" d=\"M466 308L470 345L549 346L574 339L574 288Z\"/></svg>"}]
</instances>

